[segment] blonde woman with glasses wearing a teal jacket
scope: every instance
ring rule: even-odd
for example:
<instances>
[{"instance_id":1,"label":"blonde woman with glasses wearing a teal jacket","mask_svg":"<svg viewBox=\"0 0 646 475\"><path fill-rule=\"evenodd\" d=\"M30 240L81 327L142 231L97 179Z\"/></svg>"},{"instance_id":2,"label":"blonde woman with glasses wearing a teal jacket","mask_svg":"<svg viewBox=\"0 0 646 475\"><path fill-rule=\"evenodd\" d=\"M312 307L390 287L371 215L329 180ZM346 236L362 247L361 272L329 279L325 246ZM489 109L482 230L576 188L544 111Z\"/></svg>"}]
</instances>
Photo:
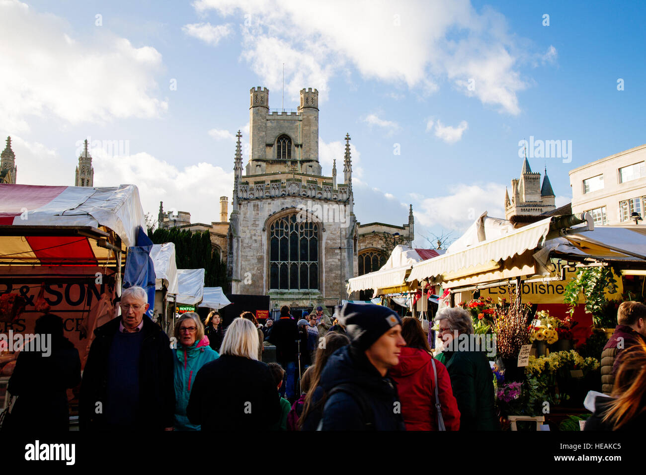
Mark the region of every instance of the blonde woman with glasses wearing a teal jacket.
<instances>
[{"instance_id":1,"label":"blonde woman with glasses wearing a teal jacket","mask_svg":"<svg viewBox=\"0 0 646 475\"><path fill-rule=\"evenodd\" d=\"M186 417L191 385L200 368L220 355L209 346L200 316L193 311L184 313L177 321L175 338L175 429L200 430L199 425L191 424Z\"/></svg>"}]
</instances>

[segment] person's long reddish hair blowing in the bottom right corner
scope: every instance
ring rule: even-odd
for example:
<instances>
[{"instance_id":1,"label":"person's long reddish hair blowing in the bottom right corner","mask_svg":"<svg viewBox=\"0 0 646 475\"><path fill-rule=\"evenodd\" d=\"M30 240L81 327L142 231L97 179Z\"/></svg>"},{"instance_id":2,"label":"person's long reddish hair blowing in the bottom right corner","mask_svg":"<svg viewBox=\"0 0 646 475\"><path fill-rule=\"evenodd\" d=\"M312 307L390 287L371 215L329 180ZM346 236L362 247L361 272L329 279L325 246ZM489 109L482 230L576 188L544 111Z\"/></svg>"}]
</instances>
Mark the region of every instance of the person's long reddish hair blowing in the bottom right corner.
<instances>
[{"instance_id":1,"label":"person's long reddish hair blowing in the bottom right corner","mask_svg":"<svg viewBox=\"0 0 646 475\"><path fill-rule=\"evenodd\" d=\"M646 344L623 350L611 397L597 397L584 430L643 430L646 425Z\"/></svg>"}]
</instances>

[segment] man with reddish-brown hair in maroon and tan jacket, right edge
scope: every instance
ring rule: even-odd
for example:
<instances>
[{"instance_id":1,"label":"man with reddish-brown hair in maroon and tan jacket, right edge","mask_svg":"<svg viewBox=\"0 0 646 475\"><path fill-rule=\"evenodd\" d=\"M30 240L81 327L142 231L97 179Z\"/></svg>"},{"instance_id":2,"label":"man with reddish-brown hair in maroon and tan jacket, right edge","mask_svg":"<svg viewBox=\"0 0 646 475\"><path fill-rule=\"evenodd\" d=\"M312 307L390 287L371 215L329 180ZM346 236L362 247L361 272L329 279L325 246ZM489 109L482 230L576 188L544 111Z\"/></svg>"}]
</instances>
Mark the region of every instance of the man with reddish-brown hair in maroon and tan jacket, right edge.
<instances>
[{"instance_id":1,"label":"man with reddish-brown hair in maroon and tan jacket, right edge","mask_svg":"<svg viewBox=\"0 0 646 475\"><path fill-rule=\"evenodd\" d=\"M646 305L627 301L617 311L618 325L601 352L601 390L612 392L614 374L621 363L621 351L646 339Z\"/></svg>"}]
</instances>

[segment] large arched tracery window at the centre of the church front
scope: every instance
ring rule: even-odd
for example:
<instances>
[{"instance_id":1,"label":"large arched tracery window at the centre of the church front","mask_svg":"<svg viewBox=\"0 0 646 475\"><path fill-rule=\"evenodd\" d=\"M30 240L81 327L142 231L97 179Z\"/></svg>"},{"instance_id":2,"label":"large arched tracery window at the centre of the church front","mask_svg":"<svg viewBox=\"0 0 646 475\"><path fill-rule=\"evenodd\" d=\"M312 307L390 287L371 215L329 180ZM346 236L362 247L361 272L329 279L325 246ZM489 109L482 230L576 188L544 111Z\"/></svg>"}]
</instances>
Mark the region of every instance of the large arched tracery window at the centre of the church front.
<instances>
[{"instance_id":1,"label":"large arched tracery window at the centre of the church front","mask_svg":"<svg viewBox=\"0 0 646 475\"><path fill-rule=\"evenodd\" d=\"M296 214L269 227L269 288L318 290L318 224Z\"/></svg>"}]
</instances>

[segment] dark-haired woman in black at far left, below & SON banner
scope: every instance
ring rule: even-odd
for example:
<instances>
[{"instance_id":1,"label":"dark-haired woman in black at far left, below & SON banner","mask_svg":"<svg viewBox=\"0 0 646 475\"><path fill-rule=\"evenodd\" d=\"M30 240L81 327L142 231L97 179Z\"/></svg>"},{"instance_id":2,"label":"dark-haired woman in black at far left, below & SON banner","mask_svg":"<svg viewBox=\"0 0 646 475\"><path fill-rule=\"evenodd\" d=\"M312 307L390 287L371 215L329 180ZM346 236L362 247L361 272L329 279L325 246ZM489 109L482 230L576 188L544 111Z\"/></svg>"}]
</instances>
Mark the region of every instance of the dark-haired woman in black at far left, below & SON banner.
<instances>
[{"instance_id":1,"label":"dark-haired woman in black at far left, below & SON banner","mask_svg":"<svg viewBox=\"0 0 646 475\"><path fill-rule=\"evenodd\" d=\"M3 430L69 430L67 389L81 382L81 360L63 336L63 319L47 313L34 330L41 351L21 351L7 386L17 396Z\"/></svg>"}]
</instances>

